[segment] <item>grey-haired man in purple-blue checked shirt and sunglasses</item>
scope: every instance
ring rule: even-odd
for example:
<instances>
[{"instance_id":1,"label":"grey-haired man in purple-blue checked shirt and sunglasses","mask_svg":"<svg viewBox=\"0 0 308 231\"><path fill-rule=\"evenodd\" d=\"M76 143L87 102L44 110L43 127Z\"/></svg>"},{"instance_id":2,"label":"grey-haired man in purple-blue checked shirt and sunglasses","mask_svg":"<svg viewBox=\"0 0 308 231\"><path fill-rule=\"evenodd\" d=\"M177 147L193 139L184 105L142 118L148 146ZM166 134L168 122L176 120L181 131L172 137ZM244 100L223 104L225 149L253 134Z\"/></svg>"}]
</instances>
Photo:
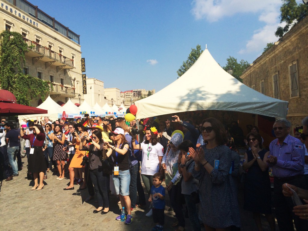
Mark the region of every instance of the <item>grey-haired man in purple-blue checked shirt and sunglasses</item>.
<instances>
[{"instance_id":1,"label":"grey-haired man in purple-blue checked shirt and sunglasses","mask_svg":"<svg viewBox=\"0 0 308 231\"><path fill-rule=\"evenodd\" d=\"M299 219L292 212L294 204L282 194L282 184L288 183L306 188L304 178L305 149L299 139L290 136L291 123L277 120L273 130L277 139L270 143L270 155L266 159L274 175L274 205L279 230L292 231L293 220L297 231L308 230L308 221Z\"/></svg>"}]
</instances>

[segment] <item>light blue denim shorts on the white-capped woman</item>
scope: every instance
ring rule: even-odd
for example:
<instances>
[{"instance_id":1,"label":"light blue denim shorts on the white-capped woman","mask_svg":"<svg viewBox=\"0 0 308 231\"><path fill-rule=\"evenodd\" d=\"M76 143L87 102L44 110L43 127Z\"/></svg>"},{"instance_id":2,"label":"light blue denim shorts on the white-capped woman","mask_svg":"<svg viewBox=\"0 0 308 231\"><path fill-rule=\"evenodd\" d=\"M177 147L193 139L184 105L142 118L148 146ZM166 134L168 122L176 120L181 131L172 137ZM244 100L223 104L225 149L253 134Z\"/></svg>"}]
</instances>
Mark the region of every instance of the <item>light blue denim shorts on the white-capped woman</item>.
<instances>
[{"instance_id":1,"label":"light blue denim shorts on the white-capped woman","mask_svg":"<svg viewBox=\"0 0 308 231\"><path fill-rule=\"evenodd\" d=\"M113 175L113 184L115 185L115 193L121 196L129 195L129 184L131 182L131 174L129 169L125 171L119 171L119 175Z\"/></svg>"}]
</instances>

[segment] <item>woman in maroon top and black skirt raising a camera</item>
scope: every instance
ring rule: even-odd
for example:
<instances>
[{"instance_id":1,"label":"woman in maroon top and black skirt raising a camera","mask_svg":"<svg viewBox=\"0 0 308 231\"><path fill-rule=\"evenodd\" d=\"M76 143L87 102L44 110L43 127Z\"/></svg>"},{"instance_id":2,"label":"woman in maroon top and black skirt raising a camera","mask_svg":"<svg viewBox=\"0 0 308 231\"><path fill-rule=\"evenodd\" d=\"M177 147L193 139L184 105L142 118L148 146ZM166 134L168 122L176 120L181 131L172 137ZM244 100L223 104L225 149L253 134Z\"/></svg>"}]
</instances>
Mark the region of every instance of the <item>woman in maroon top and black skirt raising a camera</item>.
<instances>
[{"instance_id":1,"label":"woman in maroon top and black skirt raising a camera","mask_svg":"<svg viewBox=\"0 0 308 231\"><path fill-rule=\"evenodd\" d=\"M31 128L31 127L30 127ZM20 129L20 136L23 139L30 141L30 154L28 171L33 173L34 186L31 190L41 190L44 187L43 179L44 173L47 170L45 156L43 153L43 145L46 138L44 129L41 125L37 124L32 127L33 134L24 134L22 128ZM39 184L38 184L39 175Z\"/></svg>"}]
</instances>

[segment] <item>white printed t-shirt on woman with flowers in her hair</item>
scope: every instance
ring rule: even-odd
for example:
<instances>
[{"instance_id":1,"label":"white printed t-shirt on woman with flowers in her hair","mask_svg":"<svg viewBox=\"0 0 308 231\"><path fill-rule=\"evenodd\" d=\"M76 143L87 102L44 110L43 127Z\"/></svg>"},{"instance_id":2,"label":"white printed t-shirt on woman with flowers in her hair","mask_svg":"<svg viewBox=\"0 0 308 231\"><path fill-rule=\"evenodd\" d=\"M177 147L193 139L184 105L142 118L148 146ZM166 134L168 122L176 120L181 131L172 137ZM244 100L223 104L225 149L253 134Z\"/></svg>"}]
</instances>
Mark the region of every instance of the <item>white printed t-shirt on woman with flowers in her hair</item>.
<instances>
[{"instance_id":1,"label":"white printed t-shirt on woman with flowers in her hair","mask_svg":"<svg viewBox=\"0 0 308 231\"><path fill-rule=\"evenodd\" d=\"M141 174L154 175L159 170L158 157L164 156L164 147L160 143L154 146L151 143L141 143L140 147L142 149Z\"/></svg>"}]
</instances>

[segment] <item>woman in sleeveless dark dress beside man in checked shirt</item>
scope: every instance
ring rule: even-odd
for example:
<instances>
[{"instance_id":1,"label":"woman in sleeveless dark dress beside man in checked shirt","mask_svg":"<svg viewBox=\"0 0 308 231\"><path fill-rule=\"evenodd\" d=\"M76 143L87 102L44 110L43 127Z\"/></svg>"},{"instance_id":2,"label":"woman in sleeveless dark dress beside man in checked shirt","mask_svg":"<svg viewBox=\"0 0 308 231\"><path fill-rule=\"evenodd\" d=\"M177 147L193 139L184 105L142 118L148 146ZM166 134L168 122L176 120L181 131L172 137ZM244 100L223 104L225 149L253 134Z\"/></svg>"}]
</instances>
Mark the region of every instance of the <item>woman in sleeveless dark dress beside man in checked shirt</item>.
<instances>
[{"instance_id":1,"label":"woman in sleeveless dark dress beside man in checked shirt","mask_svg":"<svg viewBox=\"0 0 308 231\"><path fill-rule=\"evenodd\" d=\"M259 231L263 230L261 213L265 214L271 230L274 231L275 219L271 208L270 176L266 163L266 158L270 155L270 151L262 148L260 134L249 133L246 139L251 149L246 151L243 160L243 170L246 171L244 209L253 213L253 219Z\"/></svg>"}]
</instances>

